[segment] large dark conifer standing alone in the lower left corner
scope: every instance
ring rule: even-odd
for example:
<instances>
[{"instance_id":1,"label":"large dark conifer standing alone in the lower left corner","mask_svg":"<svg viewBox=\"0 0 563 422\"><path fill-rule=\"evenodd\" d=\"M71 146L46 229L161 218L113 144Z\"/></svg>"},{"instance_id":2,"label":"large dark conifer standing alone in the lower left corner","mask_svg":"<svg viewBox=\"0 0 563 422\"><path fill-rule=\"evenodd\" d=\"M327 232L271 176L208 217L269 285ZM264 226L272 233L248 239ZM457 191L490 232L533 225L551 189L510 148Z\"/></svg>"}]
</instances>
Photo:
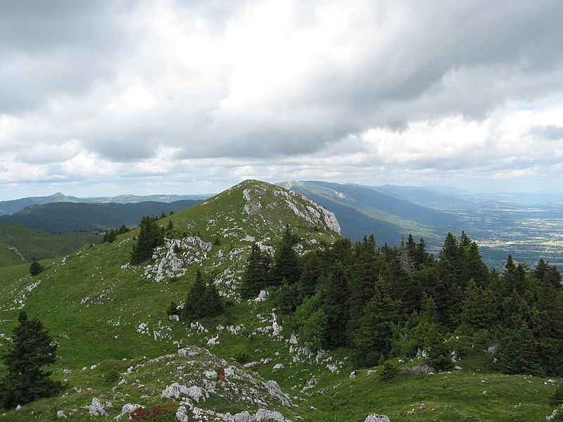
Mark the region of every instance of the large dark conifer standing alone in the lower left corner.
<instances>
[{"instance_id":1,"label":"large dark conifer standing alone in the lower left corner","mask_svg":"<svg viewBox=\"0 0 563 422\"><path fill-rule=\"evenodd\" d=\"M18 316L19 325L13 331L13 342L2 351L8 372L0 379L0 405L11 409L35 399L51 397L62 385L52 381L45 367L56 360L57 345L39 319L28 319L25 312Z\"/></svg>"}]
</instances>

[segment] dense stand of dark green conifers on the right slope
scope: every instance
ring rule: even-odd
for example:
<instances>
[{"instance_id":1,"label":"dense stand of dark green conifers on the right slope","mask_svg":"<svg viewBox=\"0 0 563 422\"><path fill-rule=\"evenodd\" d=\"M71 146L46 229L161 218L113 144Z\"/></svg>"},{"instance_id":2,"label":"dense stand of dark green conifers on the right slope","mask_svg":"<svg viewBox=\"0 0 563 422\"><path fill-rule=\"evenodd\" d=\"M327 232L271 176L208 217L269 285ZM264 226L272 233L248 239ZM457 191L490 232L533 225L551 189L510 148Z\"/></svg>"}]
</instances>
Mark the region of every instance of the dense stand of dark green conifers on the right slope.
<instances>
[{"instance_id":1,"label":"dense stand of dark green conifers on the right slope","mask_svg":"<svg viewBox=\"0 0 563 422\"><path fill-rule=\"evenodd\" d=\"M254 245L241 295L274 292L284 325L312 350L348 347L359 366L424 352L436 369L452 359L448 338L490 348L504 373L563 373L563 293L557 267L509 255L489 271L477 244L448 234L435 258L412 235L399 247L374 237L340 239L298 257L286 228L272 259Z\"/></svg>"}]
</instances>

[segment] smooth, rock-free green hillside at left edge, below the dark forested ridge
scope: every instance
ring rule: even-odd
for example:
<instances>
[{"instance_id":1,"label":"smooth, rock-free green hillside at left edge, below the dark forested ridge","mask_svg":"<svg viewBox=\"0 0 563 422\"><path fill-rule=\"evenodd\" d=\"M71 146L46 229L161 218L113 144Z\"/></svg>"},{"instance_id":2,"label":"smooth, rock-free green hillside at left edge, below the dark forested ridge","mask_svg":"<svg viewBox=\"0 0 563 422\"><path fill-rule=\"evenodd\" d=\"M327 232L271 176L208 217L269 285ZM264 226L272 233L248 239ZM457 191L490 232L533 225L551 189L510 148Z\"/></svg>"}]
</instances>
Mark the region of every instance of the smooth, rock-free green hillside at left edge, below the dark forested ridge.
<instances>
[{"instance_id":1,"label":"smooth, rock-free green hillside at left edge, below the dark forested ridge","mask_svg":"<svg viewBox=\"0 0 563 422\"><path fill-rule=\"evenodd\" d=\"M94 232L55 235L21 224L0 224L0 267L61 257L101 239Z\"/></svg>"}]
</instances>

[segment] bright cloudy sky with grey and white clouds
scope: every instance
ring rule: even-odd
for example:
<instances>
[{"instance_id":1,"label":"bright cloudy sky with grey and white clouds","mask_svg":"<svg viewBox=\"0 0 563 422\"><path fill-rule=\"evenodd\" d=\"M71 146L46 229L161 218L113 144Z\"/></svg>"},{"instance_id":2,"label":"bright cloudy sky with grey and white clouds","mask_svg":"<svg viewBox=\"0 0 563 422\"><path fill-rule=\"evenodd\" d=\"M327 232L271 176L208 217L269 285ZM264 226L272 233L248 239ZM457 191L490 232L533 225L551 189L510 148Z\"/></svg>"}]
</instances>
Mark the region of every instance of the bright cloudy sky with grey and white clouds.
<instances>
[{"instance_id":1,"label":"bright cloudy sky with grey and white clouds","mask_svg":"<svg viewBox=\"0 0 563 422\"><path fill-rule=\"evenodd\" d=\"M0 200L563 191L563 1L0 0Z\"/></svg>"}]
</instances>

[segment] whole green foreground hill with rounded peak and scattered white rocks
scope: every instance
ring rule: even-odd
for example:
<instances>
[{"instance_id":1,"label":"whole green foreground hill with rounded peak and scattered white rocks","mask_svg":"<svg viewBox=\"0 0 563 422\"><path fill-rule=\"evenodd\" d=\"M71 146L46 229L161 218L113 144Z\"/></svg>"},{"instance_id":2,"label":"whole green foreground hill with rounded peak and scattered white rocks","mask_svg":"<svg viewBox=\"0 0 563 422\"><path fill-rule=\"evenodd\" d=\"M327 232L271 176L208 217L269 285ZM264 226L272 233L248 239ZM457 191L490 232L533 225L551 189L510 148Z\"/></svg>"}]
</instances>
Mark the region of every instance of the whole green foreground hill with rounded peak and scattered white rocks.
<instances>
[{"instance_id":1,"label":"whole green foreground hill with rounded peak and scattered white rocks","mask_svg":"<svg viewBox=\"0 0 563 422\"><path fill-rule=\"evenodd\" d=\"M389 382L377 369L352 376L346 350L293 344L271 295L239 300L254 242L273 252L288 224L300 254L341 238L334 215L306 198L244 181L158 224L172 228L146 264L129 264L134 230L44 260L38 276L28 264L2 269L0 347L25 309L58 343L53 378L68 384L56 397L6 412L6 420L49 421L58 411L87 419L93 400L108 418L127 404L170 405L189 421L364 421L371 413L393 422L533 421L552 411L547 378L485 373L476 362ZM224 312L191 324L169 319L167 307L185 302L198 270L224 297Z\"/></svg>"}]
</instances>

